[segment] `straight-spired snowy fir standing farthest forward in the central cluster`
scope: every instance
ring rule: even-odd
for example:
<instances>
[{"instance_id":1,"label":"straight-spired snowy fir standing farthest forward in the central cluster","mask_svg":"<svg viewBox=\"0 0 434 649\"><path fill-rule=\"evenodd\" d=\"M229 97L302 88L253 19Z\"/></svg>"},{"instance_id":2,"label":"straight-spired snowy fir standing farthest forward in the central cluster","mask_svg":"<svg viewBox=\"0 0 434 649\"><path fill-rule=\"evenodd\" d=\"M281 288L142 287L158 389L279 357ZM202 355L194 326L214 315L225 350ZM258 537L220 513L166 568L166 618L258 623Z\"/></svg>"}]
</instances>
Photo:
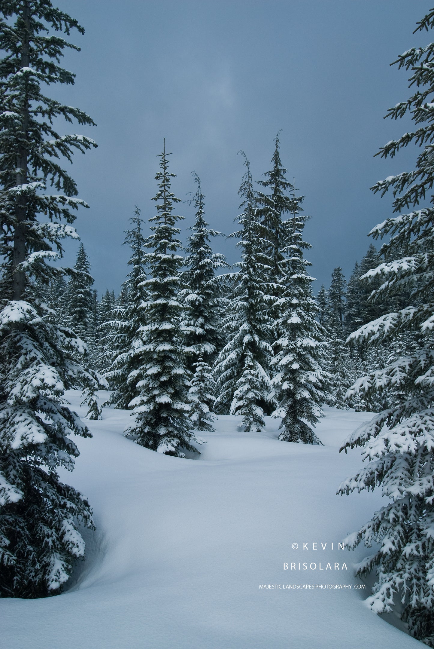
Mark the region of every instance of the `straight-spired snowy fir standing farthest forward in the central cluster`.
<instances>
[{"instance_id":1,"label":"straight-spired snowy fir standing farthest forward in the central cluster","mask_svg":"<svg viewBox=\"0 0 434 649\"><path fill-rule=\"evenodd\" d=\"M173 214L180 202L171 191L168 156L160 154L160 171L156 175L158 192L154 197L157 214L149 219L151 235L147 239L145 255L149 278L144 303L146 324L140 328L142 344L134 351L138 363L128 376L135 382L138 396L130 406L136 421L126 434L144 447L159 453L185 457L185 451L199 453L189 418L189 371L186 367L186 347L182 326L184 305L180 299L180 273L184 258L178 254L181 242L177 221L183 217Z\"/></svg>"}]
</instances>

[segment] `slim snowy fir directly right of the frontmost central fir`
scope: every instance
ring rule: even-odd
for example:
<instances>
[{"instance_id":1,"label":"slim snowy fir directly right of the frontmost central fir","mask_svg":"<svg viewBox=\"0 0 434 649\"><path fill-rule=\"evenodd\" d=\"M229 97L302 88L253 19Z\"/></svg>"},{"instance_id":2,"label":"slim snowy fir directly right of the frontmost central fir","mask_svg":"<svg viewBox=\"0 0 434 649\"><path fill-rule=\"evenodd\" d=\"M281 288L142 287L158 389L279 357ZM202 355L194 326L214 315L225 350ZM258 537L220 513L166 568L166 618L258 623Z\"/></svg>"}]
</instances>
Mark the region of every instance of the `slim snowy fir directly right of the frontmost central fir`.
<instances>
[{"instance_id":1,"label":"slim snowy fir directly right of the frontmost central fir","mask_svg":"<svg viewBox=\"0 0 434 649\"><path fill-rule=\"evenodd\" d=\"M186 312L186 337L184 344L189 347L191 357L189 370L193 373L190 394L192 419L197 430L212 430L215 403L215 383L211 377L211 366L217 350L223 347L223 336L219 319L222 312L222 299L218 285L213 282L215 270L226 266L223 254L213 252L210 240L221 233L208 227L204 217L204 195L200 178L194 173L197 191L192 201L196 209L194 225L189 228L185 260L186 270L182 275Z\"/></svg>"}]
</instances>

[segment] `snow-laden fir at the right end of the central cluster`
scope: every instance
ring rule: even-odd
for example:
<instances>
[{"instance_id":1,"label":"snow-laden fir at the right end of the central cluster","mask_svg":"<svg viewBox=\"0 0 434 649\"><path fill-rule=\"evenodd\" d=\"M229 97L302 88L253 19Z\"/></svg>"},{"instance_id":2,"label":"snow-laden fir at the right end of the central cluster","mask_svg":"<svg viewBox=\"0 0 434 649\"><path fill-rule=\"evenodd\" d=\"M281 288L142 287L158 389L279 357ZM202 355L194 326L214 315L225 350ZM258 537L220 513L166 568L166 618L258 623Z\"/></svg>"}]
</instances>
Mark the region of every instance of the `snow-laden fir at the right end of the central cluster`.
<instances>
[{"instance_id":1,"label":"snow-laden fir at the right end of the central cluster","mask_svg":"<svg viewBox=\"0 0 434 649\"><path fill-rule=\"evenodd\" d=\"M282 418L279 439L304 444L320 444L313 427L322 417L322 404L328 400L328 374L324 369L324 329L317 321L319 308L313 298L307 274L310 266L303 251L311 248L302 239L308 217L302 216L300 199L294 202L293 217L286 222L287 238L284 275L280 298L282 315L277 323L280 338L274 343L271 361L272 398L278 404L273 417Z\"/></svg>"}]
</instances>

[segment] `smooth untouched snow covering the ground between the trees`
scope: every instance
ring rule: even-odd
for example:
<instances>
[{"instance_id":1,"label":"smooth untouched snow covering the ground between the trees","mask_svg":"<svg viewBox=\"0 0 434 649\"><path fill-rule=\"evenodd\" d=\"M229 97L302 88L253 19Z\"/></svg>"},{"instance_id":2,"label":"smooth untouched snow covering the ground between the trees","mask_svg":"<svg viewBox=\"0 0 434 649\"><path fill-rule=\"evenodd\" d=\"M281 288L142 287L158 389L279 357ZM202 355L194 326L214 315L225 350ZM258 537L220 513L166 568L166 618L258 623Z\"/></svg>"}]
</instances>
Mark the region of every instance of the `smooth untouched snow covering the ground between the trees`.
<instances>
[{"instance_id":1,"label":"smooth untouched snow covering the ground between the trees","mask_svg":"<svg viewBox=\"0 0 434 649\"><path fill-rule=\"evenodd\" d=\"M67 397L84 415L80 393ZM422 646L367 609L369 591L356 589L354 578L366 548L337 549L382 504L376 492L335 495L361 465L358 451L339 454L339 446L366 419L327 408L317 427L325 446L311 447L278 441L278 422L269 418L265 431L252 434L221 416L216 432L201 434L200 457L179 459L125 439L130 413L104 409L102 421L88 422L93 438L78 439L75 471L62 473L93 506L97 532L84 533L86 561L59 596L0 600L1 646ZM298 570L298 562L308 569ZM283 570L284 563L296 570Z\"/></svg>"}]
</instances>

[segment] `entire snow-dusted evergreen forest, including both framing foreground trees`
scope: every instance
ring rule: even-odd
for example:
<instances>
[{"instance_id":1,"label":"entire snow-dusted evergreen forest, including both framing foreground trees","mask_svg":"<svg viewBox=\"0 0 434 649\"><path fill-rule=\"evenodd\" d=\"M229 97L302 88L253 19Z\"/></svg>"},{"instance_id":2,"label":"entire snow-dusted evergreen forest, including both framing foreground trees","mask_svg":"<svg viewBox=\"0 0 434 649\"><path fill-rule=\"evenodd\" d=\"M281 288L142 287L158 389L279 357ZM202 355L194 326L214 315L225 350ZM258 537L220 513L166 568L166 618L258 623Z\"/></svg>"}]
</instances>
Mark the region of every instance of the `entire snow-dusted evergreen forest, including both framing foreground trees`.
<instances>
[{"instance_id":1,"label":"entire snow-dusted evergreen forest, including both framing foreground trees","mask_svg":"<svg viewBox=\"0 0 434 649\"><path fill-rule=\"evenodd\" d=\"M371 188L392 194L394 214L373 224L378 246L354 260L348 279L335 267L315 295L310 217L280 132L259 179L239 152L233 265L213 252L225 235L207 221L207 189L193 170L195 220L182 240L162 134L152 216L142 218L150 206L130 206L125 282L99 296L82 243L73 267L59 263L64 240L79 239L75 210L87 207L62 158L97 145L59 134L56 120L93 120L45 94L73 84L61 56L77 49L66 38L84 30L50 0L0 8L1 596L60 594L84 557L92 503L60 471L80 454L71 435L91 437L86 421L104 421L104 408L130 411L128 440L184 463L199 458L219 417L234 415L250 434L271 417L279 442L320 447L324 410L352 410L369 421L340 450L362 448L365 463L338 493L378 487L388 502L344 545L378 548L356 567L359 578L375 576L368 605L380 614L398 605L410 635L434 647L434 44L395 61L413 94L387 117L409 115L415 129L378 153L409 144L420 153L415 169ZM433 28L434 9L416 30ZM66 390L80 392L86 417L69 408Z\"/></svg>"}]
</instances>

